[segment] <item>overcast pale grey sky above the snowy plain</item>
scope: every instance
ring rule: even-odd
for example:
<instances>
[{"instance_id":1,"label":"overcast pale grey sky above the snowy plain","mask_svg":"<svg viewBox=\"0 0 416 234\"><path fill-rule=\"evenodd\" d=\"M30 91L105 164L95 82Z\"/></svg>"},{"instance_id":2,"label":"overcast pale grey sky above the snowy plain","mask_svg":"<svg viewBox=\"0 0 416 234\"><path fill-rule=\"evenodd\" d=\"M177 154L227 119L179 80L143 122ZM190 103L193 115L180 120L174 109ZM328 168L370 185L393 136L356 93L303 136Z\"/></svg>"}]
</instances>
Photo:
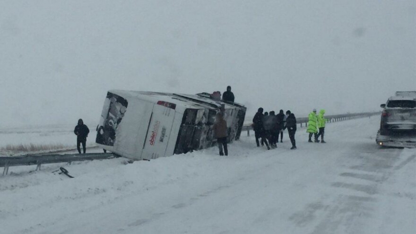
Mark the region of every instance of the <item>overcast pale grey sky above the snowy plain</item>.
<instances>
[{"instance_id":1,"label":"overcast pale grey sky above the snowy plain","mask_svg":"<svg viewBox=\"0 0 416 234\"><path fill-rule=\"evenodd\" d=\"M0 125L95 123L110 89L379 111L416 90L415 23L415 0L2 0Z\"/></svg>"}]
</instances>

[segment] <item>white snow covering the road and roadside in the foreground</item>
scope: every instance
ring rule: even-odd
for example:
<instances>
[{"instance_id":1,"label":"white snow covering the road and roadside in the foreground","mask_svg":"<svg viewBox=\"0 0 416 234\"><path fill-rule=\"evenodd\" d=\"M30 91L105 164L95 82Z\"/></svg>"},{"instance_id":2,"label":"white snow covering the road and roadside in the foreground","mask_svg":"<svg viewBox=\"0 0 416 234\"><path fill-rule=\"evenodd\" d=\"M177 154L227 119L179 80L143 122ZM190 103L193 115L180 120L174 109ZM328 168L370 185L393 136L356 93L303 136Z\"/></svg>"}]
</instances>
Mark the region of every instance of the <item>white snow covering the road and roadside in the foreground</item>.
<instances>
[{"instance_id":1,"label":"white snow covering the road and roadside in the foreground","mask_svg":"<svg viewBox=\"0 0 416 234\"><path fill-rule=\"evenodd\" d=\"M128 164L117 158L10 167L1 233L414 234L416 151L379 148L379 117L305 128L290 150L229 145ZM60 166L75 178L53 172Z\"/></svg>"}]
</instances>

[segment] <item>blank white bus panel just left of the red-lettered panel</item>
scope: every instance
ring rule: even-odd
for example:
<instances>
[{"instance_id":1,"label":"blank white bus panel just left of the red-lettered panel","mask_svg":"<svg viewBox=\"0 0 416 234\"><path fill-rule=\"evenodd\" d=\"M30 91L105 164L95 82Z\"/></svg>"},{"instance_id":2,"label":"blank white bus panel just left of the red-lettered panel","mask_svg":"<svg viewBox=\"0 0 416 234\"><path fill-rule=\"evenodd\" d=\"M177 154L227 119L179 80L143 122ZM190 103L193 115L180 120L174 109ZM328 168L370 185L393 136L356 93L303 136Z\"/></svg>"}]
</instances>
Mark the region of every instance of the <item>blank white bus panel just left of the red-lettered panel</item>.
<instances>
[{"instance_id":1,"label":"blank white bus panel just left of the red-lettered panel","mask_svg":"<svg viewBox=\"0 0 416 234\"><path fill-rule=\"evenodd\" d=\"M126 158L140 160L153 103L132 98L123 121L117 128L114 151Z\"/></svg>"}]
</instances>

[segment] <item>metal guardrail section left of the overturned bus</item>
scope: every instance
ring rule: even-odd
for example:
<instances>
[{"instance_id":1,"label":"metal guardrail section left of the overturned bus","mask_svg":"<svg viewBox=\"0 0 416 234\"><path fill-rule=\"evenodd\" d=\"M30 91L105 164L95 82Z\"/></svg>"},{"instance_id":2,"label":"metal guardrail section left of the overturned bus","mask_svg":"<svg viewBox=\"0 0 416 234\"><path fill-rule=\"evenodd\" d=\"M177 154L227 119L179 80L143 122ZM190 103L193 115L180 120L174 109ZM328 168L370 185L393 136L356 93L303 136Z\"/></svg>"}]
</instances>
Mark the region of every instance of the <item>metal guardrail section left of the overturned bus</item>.
<instances>
[{"instance_id":1,"label":"metal guardrail section left of the overturned bus","mask_svg":"<svg viewBox=\"0 0 416 234\"><path fill-rule=\"evenodd\" d=\"M100 160L115 158L113 153L88 153L88 154L51 154L51 155L26 155L19 157L0 157L0 167L4 167L3 176L7 175L9 166L37 165L36 170L41 169L42 164L71 163L87 160Z\"/></svg>"}]
</instances>

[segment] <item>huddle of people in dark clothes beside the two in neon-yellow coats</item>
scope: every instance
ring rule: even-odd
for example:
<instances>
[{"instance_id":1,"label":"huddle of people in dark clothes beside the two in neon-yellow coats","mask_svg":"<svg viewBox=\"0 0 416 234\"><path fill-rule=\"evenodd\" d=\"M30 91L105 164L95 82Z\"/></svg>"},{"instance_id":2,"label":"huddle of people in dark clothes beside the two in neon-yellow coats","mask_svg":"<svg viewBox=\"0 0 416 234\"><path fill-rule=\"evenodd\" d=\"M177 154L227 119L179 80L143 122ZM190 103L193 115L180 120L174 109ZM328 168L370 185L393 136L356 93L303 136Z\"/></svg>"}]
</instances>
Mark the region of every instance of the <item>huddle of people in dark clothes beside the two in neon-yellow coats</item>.
<instances>
[{"instance_id":1,"label":"huddle of people in dark clothes beside the two in neon-yellow coats","mask_svg":"<svg viewBox=\"0 0 416 234\"><path fill-rule=\"evenodd\" d=\"M255 142L257 147L266 145L267 149L277 148L277 142L283 142L283 131L287 128L292 148L296 149L296 117L291 111L286 111L286 115L283 110L279 111L279 114L275 115L274 111L265 112L263 114L263 108L258 108L253 118L253 129Z\"/></svg>"}]
</instances>

